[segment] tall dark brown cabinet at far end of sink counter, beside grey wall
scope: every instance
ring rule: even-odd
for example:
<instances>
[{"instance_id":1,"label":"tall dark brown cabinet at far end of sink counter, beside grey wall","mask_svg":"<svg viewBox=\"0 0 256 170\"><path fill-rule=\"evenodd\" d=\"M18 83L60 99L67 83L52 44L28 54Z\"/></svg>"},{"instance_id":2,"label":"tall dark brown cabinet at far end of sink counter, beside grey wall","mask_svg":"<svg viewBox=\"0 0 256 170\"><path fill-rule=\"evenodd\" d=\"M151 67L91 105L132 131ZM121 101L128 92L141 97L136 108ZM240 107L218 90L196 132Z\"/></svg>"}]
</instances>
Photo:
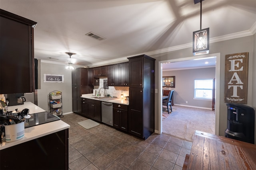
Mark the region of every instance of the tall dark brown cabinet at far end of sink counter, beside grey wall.
<instances>
[{"instance_id":1,"label":"tall dark brown cabinet at far end of sink counter, beside grey wall","mask_svg":"<svg viewBox=\"0 0 256 170\"><path fill-rule=\"evenodd\" d=\"M93 92L93 86L88 86L88 69L76 68L72 70L72 111L82 113L82 94Z\"/></svg>"}]
</instances>

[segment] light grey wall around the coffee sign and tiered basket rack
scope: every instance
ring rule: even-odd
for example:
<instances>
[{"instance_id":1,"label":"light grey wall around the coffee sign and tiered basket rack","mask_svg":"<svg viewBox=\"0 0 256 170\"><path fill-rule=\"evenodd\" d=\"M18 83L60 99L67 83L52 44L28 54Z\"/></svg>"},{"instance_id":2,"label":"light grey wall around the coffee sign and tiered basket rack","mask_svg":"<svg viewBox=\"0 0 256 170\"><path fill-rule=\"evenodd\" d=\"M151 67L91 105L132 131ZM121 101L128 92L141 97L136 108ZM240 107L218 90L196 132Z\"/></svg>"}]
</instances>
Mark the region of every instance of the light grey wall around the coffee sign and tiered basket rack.
<instances>
[{"instance_id":1,"label":"light grey wall around the coffee sign and tiered basket rack","mask_svg":"<svg viewBox=\"0 0 256 170\"><path fill-rule=\"evenodd\" d=\"M62 113L72 112L72 76L71 70L66 70L64 65L44 63L41 61L40 83L41 89L38 89L38 106L48 110L48 95L54 90L62 92ZM44 83L44 74L64 75L63 83ZM38 80L39 81L39 80Z\"/></svg>"}]
</instances>

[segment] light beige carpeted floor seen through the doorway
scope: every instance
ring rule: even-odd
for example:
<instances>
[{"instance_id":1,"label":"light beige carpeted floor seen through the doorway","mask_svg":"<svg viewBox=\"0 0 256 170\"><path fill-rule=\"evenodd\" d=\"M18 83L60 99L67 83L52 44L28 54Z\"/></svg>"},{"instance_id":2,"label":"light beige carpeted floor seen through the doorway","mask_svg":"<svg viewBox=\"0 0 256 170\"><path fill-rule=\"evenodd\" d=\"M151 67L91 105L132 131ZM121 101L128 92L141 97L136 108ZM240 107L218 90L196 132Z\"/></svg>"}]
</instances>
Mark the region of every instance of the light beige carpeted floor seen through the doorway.
<instances>
[{"instance_id":1,"label":"light beige carpeted floor seen through the doorway","mask_svg":"<svg viewBox=\"0 0 256 170\"><path fill-rule=\"evenodd\" d=\"M214 134L215 113L208 109L172 106L172 113L166 117L163 111L163 133L186 141L193 141L196 130ZM166 117L166 118L165 118Z\"/></svg>"}]
</instances>

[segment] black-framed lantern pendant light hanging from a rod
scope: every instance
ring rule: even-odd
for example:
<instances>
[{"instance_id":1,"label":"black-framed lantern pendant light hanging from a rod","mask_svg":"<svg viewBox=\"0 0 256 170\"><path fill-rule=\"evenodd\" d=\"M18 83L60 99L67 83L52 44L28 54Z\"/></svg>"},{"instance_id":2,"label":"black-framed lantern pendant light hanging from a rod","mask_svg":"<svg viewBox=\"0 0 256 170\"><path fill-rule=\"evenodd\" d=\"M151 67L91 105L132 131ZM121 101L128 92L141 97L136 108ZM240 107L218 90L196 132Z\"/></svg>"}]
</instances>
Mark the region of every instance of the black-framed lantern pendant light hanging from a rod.
<instances>
[{"instance_id":1,"label":"black-framed lantern pendant light hanging from a rod","mask_svg":"<svg viewBox=\"0 0 256 170\"><path fill-rule=\"evenodd\" d=\"M209 28L202 29L202 1L194 0L195 4L200 2L200 30L193 32L193 55L209 53Z\"/></svg>"}]
</instances>

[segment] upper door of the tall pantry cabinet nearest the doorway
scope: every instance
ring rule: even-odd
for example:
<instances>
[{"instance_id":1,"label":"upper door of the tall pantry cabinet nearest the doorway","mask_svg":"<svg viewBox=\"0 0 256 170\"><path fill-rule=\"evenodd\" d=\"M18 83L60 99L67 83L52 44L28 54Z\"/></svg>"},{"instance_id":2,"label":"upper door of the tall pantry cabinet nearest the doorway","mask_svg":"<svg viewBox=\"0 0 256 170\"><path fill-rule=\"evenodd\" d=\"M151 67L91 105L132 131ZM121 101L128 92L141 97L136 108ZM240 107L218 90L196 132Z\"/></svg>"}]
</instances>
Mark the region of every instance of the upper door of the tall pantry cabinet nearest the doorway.
<instances>
[{"instance_id":1,"label":"upper door of the tall pantry cabinet nearest the doorway","mask_svg":"<svg viewBox=\"0 0 256 170\"><path fill-rule=\"evenodd\" d=\"M143 58L129 59L129 87L143 88Z\"/></svg>"}]
</instances>

